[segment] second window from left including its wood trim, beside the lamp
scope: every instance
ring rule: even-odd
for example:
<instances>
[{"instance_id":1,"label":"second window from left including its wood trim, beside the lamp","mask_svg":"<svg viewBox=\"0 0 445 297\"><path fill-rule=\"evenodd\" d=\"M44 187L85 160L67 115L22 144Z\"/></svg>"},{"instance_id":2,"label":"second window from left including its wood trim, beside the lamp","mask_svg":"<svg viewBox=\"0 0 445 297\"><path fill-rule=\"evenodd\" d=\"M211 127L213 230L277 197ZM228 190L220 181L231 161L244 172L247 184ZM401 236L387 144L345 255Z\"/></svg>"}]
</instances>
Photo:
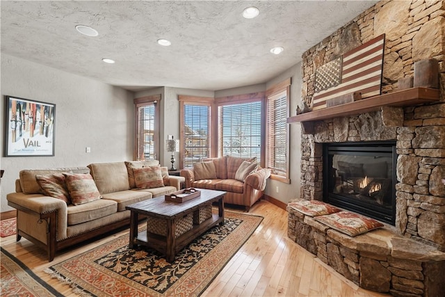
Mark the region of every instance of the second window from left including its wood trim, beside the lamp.
<instances>
[{"instance_id":1,"label":"second window from left including its wood trim, beside the lamp","mask_svg":"<svg viewBox=\"0 0 445 297\"><path fill-rule=\"evenodd\" d=\"M211 156L211 101L213 98L179 96L181 106L181 168Z\"/></svg>"}]
</instances>

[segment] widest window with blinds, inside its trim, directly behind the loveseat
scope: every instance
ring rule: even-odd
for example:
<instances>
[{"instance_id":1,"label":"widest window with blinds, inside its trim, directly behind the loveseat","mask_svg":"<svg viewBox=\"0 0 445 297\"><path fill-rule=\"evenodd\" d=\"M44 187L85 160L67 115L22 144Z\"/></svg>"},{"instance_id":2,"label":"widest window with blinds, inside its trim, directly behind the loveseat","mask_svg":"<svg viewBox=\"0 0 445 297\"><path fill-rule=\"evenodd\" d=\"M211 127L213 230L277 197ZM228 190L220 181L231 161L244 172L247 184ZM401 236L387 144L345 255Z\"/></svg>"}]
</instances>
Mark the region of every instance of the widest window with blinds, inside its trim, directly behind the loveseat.
<instances>
[{"instance_id":1,"label":"widest window with blinds, inside its trim, directly behind the loveseat","mask_svg":"<svg viewBox=\"0 0 445 297\"><path fill-rule=\"evenodd\" d=\"M218 106L221 156L256 156L261 163L261 101Z\"/></svg>"}]
</instances>

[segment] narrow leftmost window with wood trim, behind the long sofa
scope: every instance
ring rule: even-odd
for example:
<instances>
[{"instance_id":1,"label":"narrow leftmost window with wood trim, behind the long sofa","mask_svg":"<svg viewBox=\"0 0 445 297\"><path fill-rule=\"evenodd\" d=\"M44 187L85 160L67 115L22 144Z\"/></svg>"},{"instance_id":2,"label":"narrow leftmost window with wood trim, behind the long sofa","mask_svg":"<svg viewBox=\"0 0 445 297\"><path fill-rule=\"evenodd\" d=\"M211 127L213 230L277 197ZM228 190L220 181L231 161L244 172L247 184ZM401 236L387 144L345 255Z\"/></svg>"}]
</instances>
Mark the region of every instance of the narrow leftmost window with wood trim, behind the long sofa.
<instances>
[{"instance_id":1,"label":"narrow leftmost window with wood trim, behind the long sofa","mask_svg":"<svg viewBox=\"0 0 445 297\"><path fill-rule=\"evenodd\" d=\"M159 151L159 112L161 95L134 99L136 118L136 160L157 159Z\"/></svg>"}]
</instances>

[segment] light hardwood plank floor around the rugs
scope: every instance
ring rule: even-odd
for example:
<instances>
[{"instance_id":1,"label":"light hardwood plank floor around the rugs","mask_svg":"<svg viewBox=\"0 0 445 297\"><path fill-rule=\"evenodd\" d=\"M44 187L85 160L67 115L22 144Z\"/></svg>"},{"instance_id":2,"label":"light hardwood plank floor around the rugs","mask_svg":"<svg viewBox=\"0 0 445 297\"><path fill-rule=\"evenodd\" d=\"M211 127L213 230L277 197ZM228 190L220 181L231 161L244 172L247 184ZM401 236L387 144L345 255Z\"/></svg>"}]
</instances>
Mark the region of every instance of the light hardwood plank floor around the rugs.
<instances>
[{"instance_id":1,"label":"light hardwood plank floor around the rugs","mask_svg":"<svg viewBox=\"0 0 445 297\"><path fill-rule=\"evenodd\" d=\"M280 207L261 200L250 209L250 214L264 216L263 222L202 296L387 296L359 288L292 242L287 237L287 212ZM59 252L51 263L44 251L26 239L16 243L15 235L1 238L0 245L61 294L75 296L69 286L44 273L44 268L126 232Z\"/></svg>"}]
</instances>

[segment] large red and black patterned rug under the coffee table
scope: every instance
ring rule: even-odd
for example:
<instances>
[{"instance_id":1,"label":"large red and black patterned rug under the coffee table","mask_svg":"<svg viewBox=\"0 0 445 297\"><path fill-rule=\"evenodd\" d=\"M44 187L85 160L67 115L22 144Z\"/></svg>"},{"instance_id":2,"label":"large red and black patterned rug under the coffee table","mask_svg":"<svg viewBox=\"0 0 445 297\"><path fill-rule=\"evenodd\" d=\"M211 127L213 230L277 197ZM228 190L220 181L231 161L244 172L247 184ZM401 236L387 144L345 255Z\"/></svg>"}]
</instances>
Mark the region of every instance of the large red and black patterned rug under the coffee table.
<instances>
[{"instance_id":1,"label":"large red and black patterned rug under the coffee table","mask_svg":"<svg viewBox=\"0 0 445 297\"><path fill-rule=\"evenodd\" d=\"M127 234L46 272L83 296L199 296L261 220L260 216L225 211L223 225L192 241L171 264L155 250L128 248Z\"/></svg>"}]
</instances>

